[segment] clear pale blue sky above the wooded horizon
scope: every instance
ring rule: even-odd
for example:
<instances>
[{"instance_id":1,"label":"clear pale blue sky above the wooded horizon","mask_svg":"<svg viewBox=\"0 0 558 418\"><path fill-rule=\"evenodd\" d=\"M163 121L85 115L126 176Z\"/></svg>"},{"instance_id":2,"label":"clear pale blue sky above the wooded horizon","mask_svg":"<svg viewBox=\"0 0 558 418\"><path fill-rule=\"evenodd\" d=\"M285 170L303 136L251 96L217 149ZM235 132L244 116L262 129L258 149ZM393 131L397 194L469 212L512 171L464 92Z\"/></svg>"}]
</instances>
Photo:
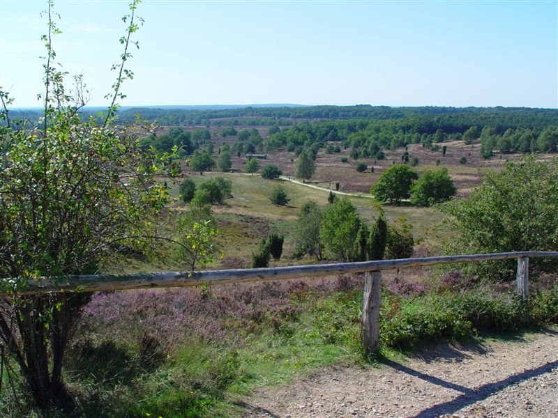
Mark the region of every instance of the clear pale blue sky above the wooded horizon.
<instances>
[{"instance_id":1,"label":"clear pale blue sky above the wooded horizon","mask_svg":"<svg viewBox=\"0 0 558 418\"><path fill-rule=\"evenodd\" d=\"M55 0L56 61L104 106L130 0ZM38 107L47 1L0 0L0 86ZM558 0L144 0L125 106L558 107ZM69 88L69 86L68 86Z\"/></svg>"}]
</instances>

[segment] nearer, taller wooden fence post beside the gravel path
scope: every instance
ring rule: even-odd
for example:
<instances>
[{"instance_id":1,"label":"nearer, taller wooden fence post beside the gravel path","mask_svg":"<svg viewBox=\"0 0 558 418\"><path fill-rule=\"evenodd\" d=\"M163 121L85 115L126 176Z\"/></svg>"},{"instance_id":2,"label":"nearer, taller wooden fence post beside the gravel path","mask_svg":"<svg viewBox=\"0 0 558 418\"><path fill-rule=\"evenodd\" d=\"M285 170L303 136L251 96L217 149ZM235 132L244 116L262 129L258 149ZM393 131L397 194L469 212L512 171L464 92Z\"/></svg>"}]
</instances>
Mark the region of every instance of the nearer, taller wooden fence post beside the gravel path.
<instances>
[{"instance_id":1,"label":"nearer, taller wooden fence post beside the gravel path","mask_svg":"<svg viewBox=\"0 0 558 418\"><path fill-rule=\"evenodd\" d=\"M362 301L361 343L367 354L379 350L379 288L382 286L382 272L366 272Z\"/></svg>"}]
</instances>

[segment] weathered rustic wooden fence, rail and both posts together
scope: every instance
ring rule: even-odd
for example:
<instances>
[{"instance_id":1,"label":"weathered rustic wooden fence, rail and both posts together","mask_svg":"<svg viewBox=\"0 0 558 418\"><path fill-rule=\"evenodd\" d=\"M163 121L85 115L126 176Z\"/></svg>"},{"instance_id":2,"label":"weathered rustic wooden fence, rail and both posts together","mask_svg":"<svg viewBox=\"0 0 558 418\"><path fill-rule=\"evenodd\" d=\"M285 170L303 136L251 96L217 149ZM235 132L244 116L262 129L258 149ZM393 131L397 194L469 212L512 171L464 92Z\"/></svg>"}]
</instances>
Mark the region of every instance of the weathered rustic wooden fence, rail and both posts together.
<instances>
[{"instance_id":1,"label":"weathered rustic wooden fence, rail and both posts together","mask_svg":"<svg viewBox=\"0 0 558 418\"><path fill-rule=\"evenodd\" d=\"M131 274L69 275L55 278L29 280L18 294L33 295L54 291L121 291L146 288L170 288L198 286L199 284L232 284L249 281L270 281L324 277L332 274L365 273L362 309L362 343L365 350L373 353L379 348L379 305L382 270L412 268L423 265L469 263L517 258L518 268L515 290L519 297L529 297L529 257L558 257L558 252L522 251L495 254L472 254L465 256L442 256L404 258L400 260L361 261L317 265L296 265L276 268L250 268L234 270L210 270L204 272L160 272ZM3 279L4 282L11 279ZM17 290L17 289L16 289ZM0 293L0 296L10 293Z\"/></svg>"}]
</instances>

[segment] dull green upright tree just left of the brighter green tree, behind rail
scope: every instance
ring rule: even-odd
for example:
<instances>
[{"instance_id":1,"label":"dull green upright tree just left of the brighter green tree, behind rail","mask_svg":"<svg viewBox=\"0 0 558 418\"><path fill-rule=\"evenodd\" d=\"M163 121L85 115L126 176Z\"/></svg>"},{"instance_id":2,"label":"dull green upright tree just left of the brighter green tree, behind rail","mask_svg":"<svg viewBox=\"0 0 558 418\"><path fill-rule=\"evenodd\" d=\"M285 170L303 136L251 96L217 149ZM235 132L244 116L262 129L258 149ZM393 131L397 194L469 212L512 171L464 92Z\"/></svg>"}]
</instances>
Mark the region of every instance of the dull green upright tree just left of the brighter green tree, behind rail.
<instances>
[{"instance_id":1,"label":"dull green upright tree just left of the brighter green tree, behind rail","mask_svg":"<svg viewBox=\"0 0 558 418\"><path fill-rule=\"evenodd\" d=\"M308 201L303 204L294 229L295 256L310 254L322 259L322 243L319 229L322 224L322 210L317 203Z\"/></svg>"}]
</instances>

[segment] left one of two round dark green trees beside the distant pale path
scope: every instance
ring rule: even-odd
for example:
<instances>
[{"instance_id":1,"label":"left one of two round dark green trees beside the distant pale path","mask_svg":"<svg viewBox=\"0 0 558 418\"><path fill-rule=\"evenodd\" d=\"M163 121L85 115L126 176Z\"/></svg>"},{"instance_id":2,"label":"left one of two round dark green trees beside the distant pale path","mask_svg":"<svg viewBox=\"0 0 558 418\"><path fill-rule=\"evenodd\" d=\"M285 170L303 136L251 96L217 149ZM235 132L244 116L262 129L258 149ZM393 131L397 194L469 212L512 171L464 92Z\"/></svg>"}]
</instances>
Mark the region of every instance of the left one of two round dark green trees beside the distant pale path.
<instances>
[{"instance_id":1,"label":"left one of two round dark green trees beside the distant pale path","mask_svg":"<svg viewBox=\"0 0 558 418\"><path fill-rule=\"evenodd\" d=\"M418 179L418 173L404 164L398 164L384 171L375 185L370 188L378 201L399 202L409 198L411 186Z\"/></svg>"}]
</instances>

